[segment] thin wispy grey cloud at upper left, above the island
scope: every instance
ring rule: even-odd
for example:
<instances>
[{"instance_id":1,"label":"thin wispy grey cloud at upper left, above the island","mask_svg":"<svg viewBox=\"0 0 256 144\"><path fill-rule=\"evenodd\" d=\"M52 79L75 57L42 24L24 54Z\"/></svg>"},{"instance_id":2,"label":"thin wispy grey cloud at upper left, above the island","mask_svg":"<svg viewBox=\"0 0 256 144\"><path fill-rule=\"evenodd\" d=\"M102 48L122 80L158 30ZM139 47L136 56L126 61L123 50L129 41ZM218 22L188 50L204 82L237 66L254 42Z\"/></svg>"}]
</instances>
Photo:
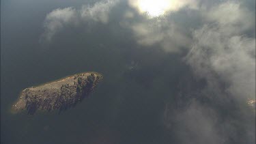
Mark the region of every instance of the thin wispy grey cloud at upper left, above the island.
<instances>
[{"instance_id":1,"label":"thin wispy grey cloud at upper left, above the island","mask_svg":"<svg viewBox=\"0 0 256 144\"><path fill-rule=\"evenodd\" d=\"M118 0L99 1L94 5L83 5L81 9L56 9L47 14L44 20L44 33L41 40L50 42L53 36L64 27L83 25L91 21L106 24L109 22L109 13Z\"/></svg>"}]
</instances>

